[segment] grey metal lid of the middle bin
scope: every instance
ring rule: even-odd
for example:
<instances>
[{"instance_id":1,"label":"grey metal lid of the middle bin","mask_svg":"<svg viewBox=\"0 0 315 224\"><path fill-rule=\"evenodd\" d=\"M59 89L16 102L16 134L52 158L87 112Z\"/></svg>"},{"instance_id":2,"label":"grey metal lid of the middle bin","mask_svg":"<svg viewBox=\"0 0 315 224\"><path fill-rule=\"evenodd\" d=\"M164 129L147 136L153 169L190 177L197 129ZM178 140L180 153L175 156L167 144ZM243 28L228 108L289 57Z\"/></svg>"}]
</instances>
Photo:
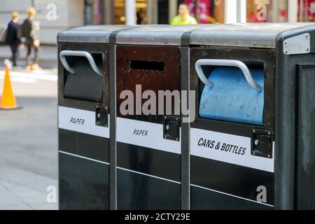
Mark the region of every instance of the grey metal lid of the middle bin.
<instances>
[{"instance_id":1,"label":"grey metal lid of the middle bin","mask_svg":"<svg viewBox=\"0 0 315 224\"><path fill-rule=\"evenodd\" d=\"M128 45L181 45L183 34L201 27L204 27L204 25L141 25L120 31L117 34L116 43Z\"/></svg>"}]
</instances>

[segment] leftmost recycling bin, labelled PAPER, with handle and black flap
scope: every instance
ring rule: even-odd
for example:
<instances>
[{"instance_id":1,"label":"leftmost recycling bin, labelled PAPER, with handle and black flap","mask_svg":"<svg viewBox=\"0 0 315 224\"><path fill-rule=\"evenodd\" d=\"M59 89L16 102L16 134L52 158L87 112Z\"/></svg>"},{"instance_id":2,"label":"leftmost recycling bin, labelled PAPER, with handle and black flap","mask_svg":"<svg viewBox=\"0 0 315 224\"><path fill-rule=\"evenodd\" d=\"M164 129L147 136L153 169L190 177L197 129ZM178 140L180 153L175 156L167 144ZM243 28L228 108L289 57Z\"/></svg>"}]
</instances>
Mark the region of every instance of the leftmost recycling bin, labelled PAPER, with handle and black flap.
<instances>
[{"instance_id":1,"label":"leftmost recycling bin, labelled PAPER, with handle and black flap","mask_svg":"<svg viewBox=\"0 0 315 224\"><path fill-rule=\"evenodd\" d=\"M119 29L57 36L59 209L109 209L109 36Z\"/></svg>"}]
</instances>

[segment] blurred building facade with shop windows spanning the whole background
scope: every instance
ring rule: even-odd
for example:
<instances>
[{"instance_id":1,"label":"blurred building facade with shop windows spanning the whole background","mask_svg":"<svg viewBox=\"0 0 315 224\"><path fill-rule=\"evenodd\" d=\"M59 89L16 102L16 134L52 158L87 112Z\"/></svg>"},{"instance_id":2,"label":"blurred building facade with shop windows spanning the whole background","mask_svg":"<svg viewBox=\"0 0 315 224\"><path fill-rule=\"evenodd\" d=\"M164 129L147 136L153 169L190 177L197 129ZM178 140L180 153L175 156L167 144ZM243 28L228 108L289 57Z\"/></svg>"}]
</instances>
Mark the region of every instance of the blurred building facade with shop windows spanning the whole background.
<instances>
[{"instance_id":1,"label":"blurred building facade with shop windows spanning the whole background","mask_svg":"<svg viewBox=\"0 0 315 224\"><path fill-rule=\"evenodd\" d=\"M55 44L57 32L83 25L168 24L179 3L200 23L314 22L315 0L1 0L0 29L13 10L34 6L41 42Z\"/></svg>"}]
</instances>

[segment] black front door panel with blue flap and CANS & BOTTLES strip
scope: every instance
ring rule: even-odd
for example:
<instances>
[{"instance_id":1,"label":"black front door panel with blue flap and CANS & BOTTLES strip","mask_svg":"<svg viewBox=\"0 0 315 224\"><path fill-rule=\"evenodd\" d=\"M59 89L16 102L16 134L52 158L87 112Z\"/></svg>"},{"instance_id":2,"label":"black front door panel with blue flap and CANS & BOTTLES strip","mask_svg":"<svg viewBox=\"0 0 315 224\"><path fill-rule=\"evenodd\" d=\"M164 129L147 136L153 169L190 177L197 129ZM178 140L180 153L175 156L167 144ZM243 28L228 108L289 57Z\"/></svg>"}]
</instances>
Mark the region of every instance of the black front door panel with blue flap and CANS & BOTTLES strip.
<instances>
[{"instance_id":1,"label":"black front door panel with blue flap and CANS & BOTTLES strip","mask_svg":"<svg viewBox=\"0 0 315 224\"><path fill-rule=\"evenodd\" d=\"M192 209L274 209L274 51L190 52Z\"/></svg>"}]
</instances>

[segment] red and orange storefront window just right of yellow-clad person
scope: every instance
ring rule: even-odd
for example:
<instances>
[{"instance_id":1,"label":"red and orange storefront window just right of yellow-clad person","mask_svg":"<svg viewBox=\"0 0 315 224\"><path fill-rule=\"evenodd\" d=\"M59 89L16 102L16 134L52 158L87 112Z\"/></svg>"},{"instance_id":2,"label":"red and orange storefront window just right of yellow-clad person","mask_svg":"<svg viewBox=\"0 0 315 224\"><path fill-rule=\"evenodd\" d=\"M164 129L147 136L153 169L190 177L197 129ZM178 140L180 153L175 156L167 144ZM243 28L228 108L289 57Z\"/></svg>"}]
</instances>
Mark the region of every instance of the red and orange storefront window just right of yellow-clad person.
<instances>
[{"instance_id":1,"label":"red and orange storefront window just right of yellow-clad person","mask_svg":"<svg viewBox=\"0 0 315 224\"><path fill-rule=\"evenodd\" d=\"M200 24L224 22L224 0L185 0Z\"/></svg>"}]
</instances>

